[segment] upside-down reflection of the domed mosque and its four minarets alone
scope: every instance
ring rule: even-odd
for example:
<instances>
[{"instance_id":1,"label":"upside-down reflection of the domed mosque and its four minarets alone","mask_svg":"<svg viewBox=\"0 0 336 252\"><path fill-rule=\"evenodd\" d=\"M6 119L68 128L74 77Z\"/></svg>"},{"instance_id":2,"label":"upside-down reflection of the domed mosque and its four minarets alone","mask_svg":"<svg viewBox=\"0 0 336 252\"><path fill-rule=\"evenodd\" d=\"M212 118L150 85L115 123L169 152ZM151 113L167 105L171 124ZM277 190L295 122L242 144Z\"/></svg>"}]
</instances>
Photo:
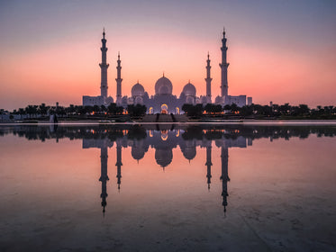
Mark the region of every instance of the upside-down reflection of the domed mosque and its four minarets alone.
<instances>
[{"instance_id":1,"label":"upside-down reflection of the domed mosque and its four minarets alone","mask_svg":"<svg viewBox=\"0 0 336 252\"><path fill-rule=\"evenodd\" d=\"M162 126L161 126L162 127ZM141 129L132 129L132 130L139 130ZM116 144L116 164L117 166L117 184L118 190L120 190L120 186L122 183L122 154L123 148L132 148L132 157L139 162L142 157L145 156L146 152L149 148L155 149L155 160L159 166L165 169L166 166L172 162L173 159L173 148L179 147L183 156L186 157L187 160L192 160L196 156L196 148L206 148L206 181L208 184L208 189L210 189L211 184L211 167L213 166L212 163L212 141L213 139L207 139L206 136L208 130L201 130L201 129L191 129L191 130L200 130L198 132L199 139L194 139L193 135L197 132L188 132L188 130L148 130L148 137L139 138L139 139L132 139L128 138L128 134L130 133L129 130L123 130L123 135L115 139ZM217 133L217 130L213 130L213 133ZM182 133L183 132L183 133ZM222 133L224 131L220 131ZM133 134L134 132L132 132ZM141 133L141 132L140 132ZM138 135L138 136L141 136ZM146 134L147 136L147 134ZM224 135L222 135L224 136ZM222 162L222 175L220 179L222 180L222 205L224 211L226 211L227 206L227 196L228 189L227 183L230 181L228 175L228 148L238 147L238 148L246 148L247 144L252 144L252 139L247 139L243 136L238 136L235 139L232 138L218 138L215 140L215 145L218 148L221 148L221 162ZM107 175L107 148L112 148L114 145L114 141L104 138L104 139L83 139L83 148L100 148L100 159L101 159L101 176L99 181L102 183L102 206L103 212L105 211L106 206L106 183L109 180Z\"/></svg>"}]
</instances>

